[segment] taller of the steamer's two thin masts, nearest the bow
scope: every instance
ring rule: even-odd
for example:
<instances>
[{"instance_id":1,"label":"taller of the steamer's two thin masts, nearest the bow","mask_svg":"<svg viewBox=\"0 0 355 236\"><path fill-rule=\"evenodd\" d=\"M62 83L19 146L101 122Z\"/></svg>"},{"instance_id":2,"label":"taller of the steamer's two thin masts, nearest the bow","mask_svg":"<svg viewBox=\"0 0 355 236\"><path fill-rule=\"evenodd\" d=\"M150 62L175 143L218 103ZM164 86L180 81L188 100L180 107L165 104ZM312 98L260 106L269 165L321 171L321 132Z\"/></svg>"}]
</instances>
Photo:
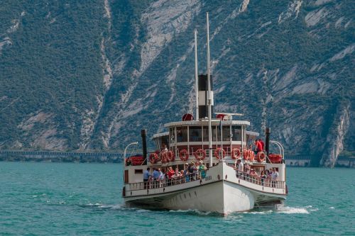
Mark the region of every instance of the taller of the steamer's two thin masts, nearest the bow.
<instances>
[{"instance_id":1,"label":"taller of the steamer's two thin masts, nearest the bow","mask_svg":"<svg viewBox=\"0 0 355 236\"><path fill-rule=\"evenodd\" d=\"M210 74L211 68L209 67L209 21L208 21L208 12L206 13L206 21L207 21L207 84L208 84L208 147L209 147L209 167L213 165L213 157L212 157L212 96L211 96L211 81Z\"/></svg>"}]
</instances>

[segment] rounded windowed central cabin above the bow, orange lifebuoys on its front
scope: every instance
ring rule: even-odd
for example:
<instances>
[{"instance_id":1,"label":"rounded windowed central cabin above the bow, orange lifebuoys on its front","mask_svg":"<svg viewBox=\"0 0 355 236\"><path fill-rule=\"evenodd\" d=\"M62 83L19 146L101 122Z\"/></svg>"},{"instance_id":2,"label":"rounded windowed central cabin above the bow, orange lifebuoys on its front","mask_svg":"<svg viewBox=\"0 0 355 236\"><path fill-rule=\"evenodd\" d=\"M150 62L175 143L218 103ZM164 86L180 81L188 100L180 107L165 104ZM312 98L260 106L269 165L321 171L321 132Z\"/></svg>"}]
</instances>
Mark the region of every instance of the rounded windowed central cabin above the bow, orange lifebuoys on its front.
<instances>
[{"instance_id":1,"label":"rounded windowed central cabin above the bow, orange lifebuoys on its front","mask_svg":"<svg viewBox=\"0 0 355 236\"><path fill-rule=\"evenodd\" d=\"M235 160L231 158L232 150L238 148L242 152L258 135L258 133L246 131L248 125L250 125L249 121L245 120L212 119L213 164L218 163L222 158L234 164ZM176 157L175 164L183 164L192 160L207 162L209 157L207 119L178 121L164 126L169 130L168 132L153 135L156 153L164 152L167 148Z\"/></svg>"}]
</instances>

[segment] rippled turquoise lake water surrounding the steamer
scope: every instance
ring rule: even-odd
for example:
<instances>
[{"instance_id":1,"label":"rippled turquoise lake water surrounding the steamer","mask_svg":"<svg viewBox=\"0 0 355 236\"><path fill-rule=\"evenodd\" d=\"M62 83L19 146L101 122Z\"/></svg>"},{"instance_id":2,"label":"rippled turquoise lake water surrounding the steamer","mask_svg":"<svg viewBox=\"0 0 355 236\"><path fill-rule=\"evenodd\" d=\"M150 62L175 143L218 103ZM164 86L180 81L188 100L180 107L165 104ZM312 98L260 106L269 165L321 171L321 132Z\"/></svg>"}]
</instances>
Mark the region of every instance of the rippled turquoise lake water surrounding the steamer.
<instances>
[{"instance_id":1,"label":"rippled turquoise lake water surrounding the steamer","mask_svg":"<svg viewBox=\"0 0 355 236\"><path fill-rule=\"evenodd\" d=\"M355 169L288 168L278 209L124 208L121 164L0 162L0 235L355 235Z\"/></svg>"}]
</instances>

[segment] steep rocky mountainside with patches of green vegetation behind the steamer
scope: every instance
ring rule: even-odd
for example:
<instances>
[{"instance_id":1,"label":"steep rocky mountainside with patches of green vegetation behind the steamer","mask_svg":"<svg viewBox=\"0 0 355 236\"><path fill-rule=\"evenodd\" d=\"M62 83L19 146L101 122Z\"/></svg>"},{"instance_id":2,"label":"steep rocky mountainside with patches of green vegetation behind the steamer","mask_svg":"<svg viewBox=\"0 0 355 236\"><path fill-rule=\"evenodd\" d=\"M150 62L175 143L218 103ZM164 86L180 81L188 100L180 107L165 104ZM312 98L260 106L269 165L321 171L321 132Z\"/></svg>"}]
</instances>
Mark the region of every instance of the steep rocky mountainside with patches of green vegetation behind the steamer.
<instances>
[{"instance_id":1,"label":"steep rocky mountainside with patches of green vegetation behind the steamer","mask_svg":"<svg viewBox=\"0 0 355 236\"><path fill-rule=\"evenodd\" d=\"M120 149L194 110L193 30L215 110L332 167L354 155L353 1L5 1L1 148Z\"/></svg>"}]
</instances>

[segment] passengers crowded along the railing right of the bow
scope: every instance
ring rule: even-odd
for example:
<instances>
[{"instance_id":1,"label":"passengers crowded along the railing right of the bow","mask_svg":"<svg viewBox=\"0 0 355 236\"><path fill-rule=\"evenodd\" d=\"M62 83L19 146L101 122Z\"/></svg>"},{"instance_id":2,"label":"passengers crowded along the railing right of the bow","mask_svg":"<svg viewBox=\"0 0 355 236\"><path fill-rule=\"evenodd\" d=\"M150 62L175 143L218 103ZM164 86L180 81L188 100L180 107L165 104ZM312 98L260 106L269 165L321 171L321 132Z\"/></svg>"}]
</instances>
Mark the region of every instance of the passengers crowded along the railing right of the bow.
<instances>
[{"instance_id":1,"label":"passengers crowded along the railing right of the bow","mask_svg":"<svg viewBox=\"0 0 355 236\"><path fill-rule=\"evenodd\" d=\"M243 164L241 159L238 159L234 169L236 169L236 176L239 179L257 181L258 184L260 182L263 186L275 187L276 181L278 181L279 174L276 168L266 169L265 171L262 170L261 173L258 174L248 163Z\"/></svg>"}]
</instances>

